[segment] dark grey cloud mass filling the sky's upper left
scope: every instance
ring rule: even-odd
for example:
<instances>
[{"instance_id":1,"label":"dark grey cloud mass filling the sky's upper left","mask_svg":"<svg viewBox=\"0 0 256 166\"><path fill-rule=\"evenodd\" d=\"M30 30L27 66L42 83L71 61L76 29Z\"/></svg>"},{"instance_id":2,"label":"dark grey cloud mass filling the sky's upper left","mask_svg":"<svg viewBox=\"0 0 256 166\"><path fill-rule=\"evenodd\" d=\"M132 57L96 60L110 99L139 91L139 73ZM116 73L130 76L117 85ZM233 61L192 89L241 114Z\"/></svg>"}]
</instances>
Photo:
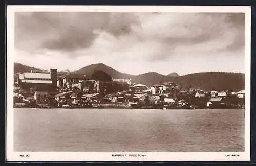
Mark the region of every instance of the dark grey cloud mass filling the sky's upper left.
<instances>
[{"instance_id":1,"label":"dark grey cloud mass filling the sky's upper left","mask_svg":"<svg viewBox=\"0 0 256 166\"><path fill-rule=\"evenodd\" d=\"M131 25L137 23L136 16L125 13L15 13L15 46L24 49L27 48L24 47L26 40L33 40L40 48L74 51L90 47L98 36L95 30L118 37L129 34ZM30 49L36 48L31 45Z\"/></svg>"}]
</instances>

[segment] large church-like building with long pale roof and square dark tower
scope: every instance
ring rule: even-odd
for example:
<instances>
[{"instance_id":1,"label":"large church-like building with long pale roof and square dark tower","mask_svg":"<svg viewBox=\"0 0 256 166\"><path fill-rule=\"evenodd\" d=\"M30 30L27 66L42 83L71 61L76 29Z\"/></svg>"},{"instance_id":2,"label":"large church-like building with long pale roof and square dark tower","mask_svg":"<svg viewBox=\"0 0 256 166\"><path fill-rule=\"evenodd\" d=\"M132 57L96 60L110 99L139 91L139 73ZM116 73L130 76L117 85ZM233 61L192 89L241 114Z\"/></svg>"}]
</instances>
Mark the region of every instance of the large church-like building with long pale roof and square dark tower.
<instances>
[{"instance_id":1,"label":"large church-like building with long pale roof and square dark tower","mask_svg":"<svg viewBox=\"0 0 256 166\"><path fill-rule=\"evenodd\" d=\"M51 69L46 72L25 72L19 73L17 84L21 89L29 90L56 90L57 88L57 70Z\"/></svg>"}]
</instances>

